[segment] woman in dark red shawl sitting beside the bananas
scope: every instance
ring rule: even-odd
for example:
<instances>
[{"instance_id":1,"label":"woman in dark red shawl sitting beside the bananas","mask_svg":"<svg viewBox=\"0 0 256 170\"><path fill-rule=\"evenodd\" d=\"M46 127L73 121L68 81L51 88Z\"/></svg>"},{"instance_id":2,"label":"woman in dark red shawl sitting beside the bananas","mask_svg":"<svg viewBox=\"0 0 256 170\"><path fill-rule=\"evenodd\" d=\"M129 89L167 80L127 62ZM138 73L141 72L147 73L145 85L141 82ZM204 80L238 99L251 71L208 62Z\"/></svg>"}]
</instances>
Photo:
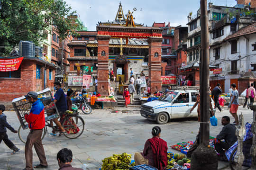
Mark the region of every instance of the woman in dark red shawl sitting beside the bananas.
<instances>
[{"instance_id":1,"label":"woman in dark red shawl sitting beside the bananas","mask_svg":"<svg viewBox=\"0 0 256 170\"><path fill-rule=\"evenodd\" d=\"M152 129L153 137L145 143L143 153L136 152L134 160L136 165L148 164L158 170L165 170L167 166L167 143L160 138L161 128L155 126Z\"/></svg>"}]
</instances>

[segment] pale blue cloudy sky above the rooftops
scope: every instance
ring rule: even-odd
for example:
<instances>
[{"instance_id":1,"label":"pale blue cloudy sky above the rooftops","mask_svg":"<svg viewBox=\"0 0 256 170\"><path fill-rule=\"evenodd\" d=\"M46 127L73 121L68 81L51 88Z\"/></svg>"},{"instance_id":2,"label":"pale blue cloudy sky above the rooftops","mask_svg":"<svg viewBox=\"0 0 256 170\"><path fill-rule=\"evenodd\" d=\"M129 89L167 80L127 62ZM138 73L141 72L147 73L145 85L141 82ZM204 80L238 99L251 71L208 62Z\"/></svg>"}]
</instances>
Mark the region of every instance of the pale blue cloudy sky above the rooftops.
<instances>
[{"instance_id":1,"label":"pale blue cloudy sky above the rooftops","mask_svg":"<svg viewBox=\"0 0 256 170\"><path fill-rule=\"evenodd\" d=\"M116 17L120 0L65 0L72 10L76 10L88 31L96 31L96 24L113 21ZM208 0L213 5L233 7L236 0ZM197 14L200 0L121 0L124 15L128 10L137 8L133 13L134 21L151 27L154 22L165 22L177 27L186 26L187 16Z\"/></svg>"}]
</instances>

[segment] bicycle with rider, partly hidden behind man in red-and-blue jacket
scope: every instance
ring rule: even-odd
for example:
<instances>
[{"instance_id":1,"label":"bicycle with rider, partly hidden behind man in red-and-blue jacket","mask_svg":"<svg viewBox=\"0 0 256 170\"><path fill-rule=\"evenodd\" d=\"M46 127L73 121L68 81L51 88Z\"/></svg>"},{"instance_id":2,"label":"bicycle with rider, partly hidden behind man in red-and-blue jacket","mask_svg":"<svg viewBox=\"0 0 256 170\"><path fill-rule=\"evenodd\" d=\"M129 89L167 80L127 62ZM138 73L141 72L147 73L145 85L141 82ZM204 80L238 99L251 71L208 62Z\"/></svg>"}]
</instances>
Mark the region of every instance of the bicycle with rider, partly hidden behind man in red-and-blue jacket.
<instances>
[{"instance_id":1,"label":"bicycle with rider, partly hidden behind man in red-and-blue jacket","mask_svg":"<svg viewBox=\"0 0 256 170\"><path fill-rule=\"evenodd\" d=\"M54 107L48 108L47 110L51 110ZM52 126L50 121L58 118L58 115L56 113L45 113L45 114L52 114L51 116L47 116L46 119L46 126L43 129L43 134L41 139L43 140L46 133L49 135L48 129L47 127L50 127L53 129L53 133L60 133L60 129L57 125ZM82 119L81 116L79 116L79 113L76 112L65 112L64 113L64 118L60 121L61 125L63 126L63 128L65 129L65 133L64 136L69 138L69 139L75 139L78 138L84 131L84 120ZM26 128L23 129L23 127L20 125L18 128L18 137L20 139L21 142L26 143L27 141L27 134L29 133L28 126L26 126Z\"/></svg>"}]
</instances>

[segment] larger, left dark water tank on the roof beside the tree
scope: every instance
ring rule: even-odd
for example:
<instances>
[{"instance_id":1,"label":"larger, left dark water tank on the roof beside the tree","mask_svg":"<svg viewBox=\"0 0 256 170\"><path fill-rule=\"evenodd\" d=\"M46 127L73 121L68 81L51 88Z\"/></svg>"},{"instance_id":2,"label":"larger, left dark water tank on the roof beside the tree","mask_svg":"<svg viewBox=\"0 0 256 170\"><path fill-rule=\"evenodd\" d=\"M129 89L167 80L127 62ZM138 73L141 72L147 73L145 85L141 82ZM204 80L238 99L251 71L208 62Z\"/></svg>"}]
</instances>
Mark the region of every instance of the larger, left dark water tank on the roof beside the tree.
<instances>
[{"instance_id":1,"label":"larger, left dark water tank on the roof beside the tree","mask_svg":"<svg viewBox=\"0 0 256 170\"><path fill-rule=\"evenodd\" d=\"M20 57L35 57L35 44L32 41L19 42Z\"/></svg>"}]
</instances>

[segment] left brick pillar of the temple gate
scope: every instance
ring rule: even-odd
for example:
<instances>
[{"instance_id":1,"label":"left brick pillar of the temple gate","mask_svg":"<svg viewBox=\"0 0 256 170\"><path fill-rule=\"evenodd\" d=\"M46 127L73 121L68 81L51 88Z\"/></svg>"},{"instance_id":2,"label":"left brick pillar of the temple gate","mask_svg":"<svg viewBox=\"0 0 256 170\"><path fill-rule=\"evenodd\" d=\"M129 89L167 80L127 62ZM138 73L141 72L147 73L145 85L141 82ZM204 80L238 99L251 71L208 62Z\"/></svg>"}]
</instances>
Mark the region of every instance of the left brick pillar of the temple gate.
<instances>
[{"instance_id":1,"label":"left brick pillar of the temple gate","mask_svg":"<svg viewBox=\"0 0 256 170\"><path fill-rule=\"evenodd\" d=\"M98 91L108 95L109 88L109 42L110 36L97 36L98 40Z\"/></svg>"}]
</instances>

